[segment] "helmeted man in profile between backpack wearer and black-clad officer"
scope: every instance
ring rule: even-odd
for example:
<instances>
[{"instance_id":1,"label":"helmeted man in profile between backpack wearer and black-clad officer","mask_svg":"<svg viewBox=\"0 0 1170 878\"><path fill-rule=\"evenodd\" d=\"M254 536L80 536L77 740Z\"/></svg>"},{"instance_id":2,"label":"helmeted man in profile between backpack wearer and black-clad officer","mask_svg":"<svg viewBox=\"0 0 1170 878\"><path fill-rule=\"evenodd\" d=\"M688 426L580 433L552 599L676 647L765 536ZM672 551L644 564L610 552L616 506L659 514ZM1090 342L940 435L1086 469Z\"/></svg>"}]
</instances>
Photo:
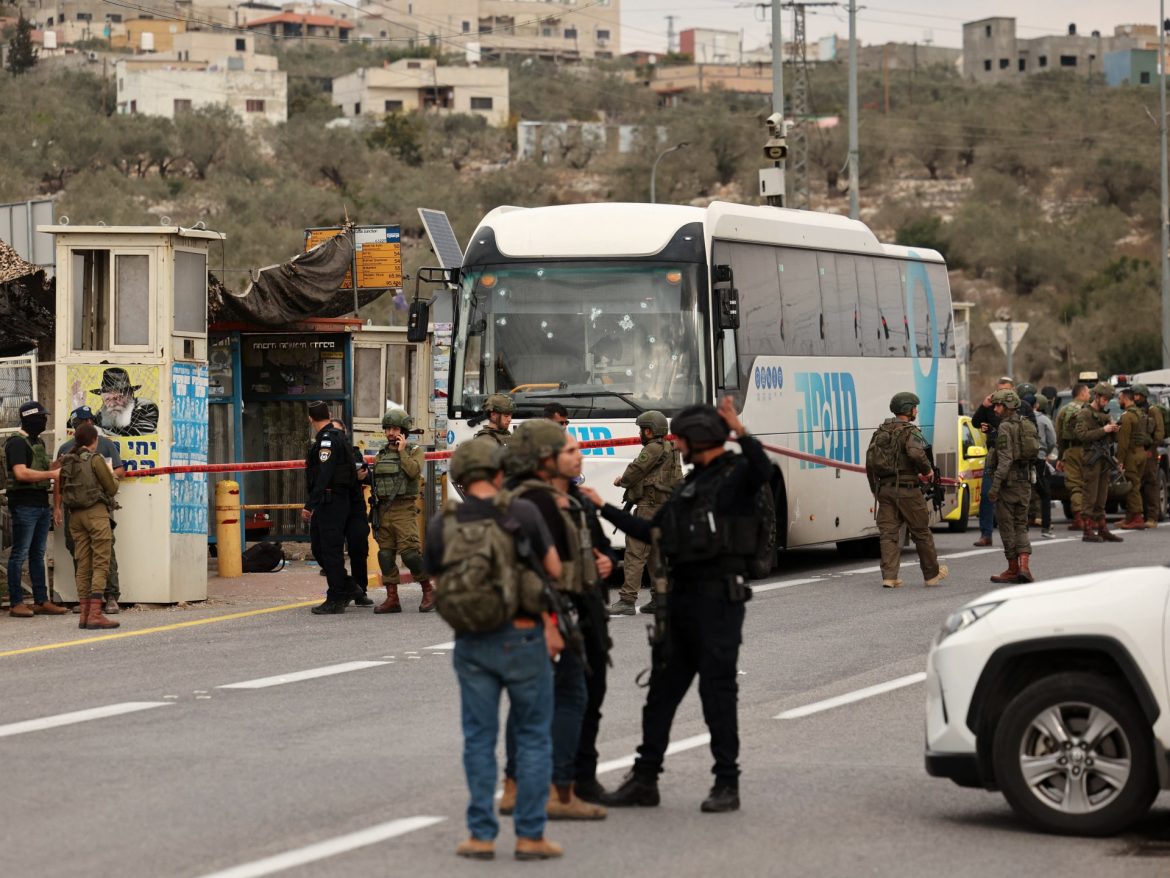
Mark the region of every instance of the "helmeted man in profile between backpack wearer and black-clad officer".
<instances>
[{"instance_id":1,"label":"helmeted man in profile between backpack wearer and black-clad officer","mask_svg":"<svg viewBox=\"0 0 1170 878\"><path fill-rule=\"evenodd\" d=\"M597 521L593 506L574 482L581 474L577 438L545 418L526 420L508 443L508 486L537 509L560 557L558 591L577 611L583 657L566 650L557 663L552 722L552 791L549 817L603 819L597 781L597 734L605 699L610 633L603 579L614 569L615 555ZM586 673L586 666L589 668ZM516 798L517 741L509 735L501 810Z\"/></svg>"}]
</instances>

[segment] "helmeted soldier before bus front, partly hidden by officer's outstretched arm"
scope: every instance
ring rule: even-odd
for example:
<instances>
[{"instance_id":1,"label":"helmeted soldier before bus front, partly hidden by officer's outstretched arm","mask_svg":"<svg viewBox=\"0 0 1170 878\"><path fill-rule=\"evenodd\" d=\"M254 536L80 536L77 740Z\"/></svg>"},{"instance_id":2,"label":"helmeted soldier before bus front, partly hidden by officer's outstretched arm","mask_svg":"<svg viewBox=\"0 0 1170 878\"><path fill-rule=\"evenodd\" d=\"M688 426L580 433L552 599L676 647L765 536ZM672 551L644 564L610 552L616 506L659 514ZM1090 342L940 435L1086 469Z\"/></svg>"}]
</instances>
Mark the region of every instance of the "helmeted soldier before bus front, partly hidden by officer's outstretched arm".
<instances>
[{"instance_id":1,"label":"helmeted soldier before bus front, partly hidden by officer's outstretched arm","mask_svg":"<svg viewBox=\"0 0 1170 878\"><path fill-rule=\"evenodd\" d=\"M629 461L625 472L613 480L614 486L625 488L622 500L626 508L634 508L639 519L653 519L670 496L675 485L682 481L682 460L674 443L666 438L667 421L662 412L642 412L634 421L638 425L642 451ZM625 579L618 599L610 606L613 616L633 616L638 590L642 585L642 570L651 547L633 537L626 540L626 556L622 564ZM654 596L642 608L642 612L654 612Z\"/></svg>"}]
</instances>

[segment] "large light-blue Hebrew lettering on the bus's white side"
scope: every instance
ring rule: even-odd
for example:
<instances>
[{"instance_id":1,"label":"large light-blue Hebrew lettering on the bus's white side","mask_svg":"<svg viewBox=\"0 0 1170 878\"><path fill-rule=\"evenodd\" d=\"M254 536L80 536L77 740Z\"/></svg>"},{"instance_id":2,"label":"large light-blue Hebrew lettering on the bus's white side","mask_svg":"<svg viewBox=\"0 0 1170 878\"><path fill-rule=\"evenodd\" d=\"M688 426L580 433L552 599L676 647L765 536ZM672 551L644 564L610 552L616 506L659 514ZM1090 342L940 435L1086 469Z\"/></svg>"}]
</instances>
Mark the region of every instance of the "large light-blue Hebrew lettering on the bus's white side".
<instances>
[{"instance_id":1,"label":"large light-blue Hebrew lettering on the bus's white side","mask_svg":"<svg viewBox=\"0 0 1170 878\"><path fill-rule=\"evenodd\" d=\"M861 460L858 435L858 389L849 372L797 372L797 392L803 396L797 409L800 451L841 464ZM801 469L826 464L800 461Z\"/></svg>"}]
</instances>

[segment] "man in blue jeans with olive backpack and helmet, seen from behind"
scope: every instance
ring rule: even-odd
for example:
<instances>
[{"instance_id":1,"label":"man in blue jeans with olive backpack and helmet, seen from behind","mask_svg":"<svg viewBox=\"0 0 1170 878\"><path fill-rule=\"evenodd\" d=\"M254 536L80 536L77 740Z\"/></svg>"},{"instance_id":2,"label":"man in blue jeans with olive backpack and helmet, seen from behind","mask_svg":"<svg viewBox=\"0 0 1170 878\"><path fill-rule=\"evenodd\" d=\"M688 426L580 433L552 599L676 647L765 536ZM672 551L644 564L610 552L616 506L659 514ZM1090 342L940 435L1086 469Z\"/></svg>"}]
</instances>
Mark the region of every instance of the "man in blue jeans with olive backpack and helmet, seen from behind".
<instances>
[{"instance_id":1,"label":"man in blue jeans with olive backpack and helmet, seen from behind","mask_svg":"<svg viewBox=\"0 0 1170 878\"><path fill-rule=\"evenodd\" d=\"M459 540L459 529L468 522L495 520L503 533L501 544L526 541L534 558L543 561L550 578L560 576L560 558L552 539L531 503L514 499L502 509L497 502L503 485L503 448L494 443L464 443L452 458L450 474L462 486L464 502L454 510L455 526L447 531L445 513L427 527L424 569L434 577L439 613L448 619L443 577L466 584L469 574L460 565L466 557L445 557L445 543ZM505 528L504 524L509 528ZM515 528L515 529L511 529ZM509 534L511 536L509 536ZM498 540L500 534L493 535ZM493 555L498 557L498 555ZM518 562L517 562L518 563ZM511 569L515 574L515 568ZM488 574L501 582L501 571ZM454 590L454 587L453 587ZM467 596L467 592L461 592ZM455 598L450 598L455 599ZM500 694L508 692L514 733L519 746L516 766L517 795L516 859L549 859L562 856L560 845L544 838L545 807L552 769L552 663L564 647L556 625L546 612L532 611L524 602L510 622L494 631L455 633L455 675L459 678L463 718L463 771L470 801L467 805L469 837L455 852L473 859L495 857L500 832L494 805L500 735Z\"/></svg>"}]
</instances>

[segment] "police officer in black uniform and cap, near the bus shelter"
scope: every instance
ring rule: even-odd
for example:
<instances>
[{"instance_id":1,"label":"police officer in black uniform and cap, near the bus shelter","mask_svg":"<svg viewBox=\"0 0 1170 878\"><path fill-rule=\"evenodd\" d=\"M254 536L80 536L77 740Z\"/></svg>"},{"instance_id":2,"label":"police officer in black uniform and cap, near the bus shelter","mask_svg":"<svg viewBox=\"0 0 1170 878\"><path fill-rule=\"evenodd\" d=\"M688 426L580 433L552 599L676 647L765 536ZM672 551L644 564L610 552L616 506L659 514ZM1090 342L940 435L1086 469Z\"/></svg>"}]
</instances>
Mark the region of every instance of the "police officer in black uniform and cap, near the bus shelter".
<instances>
[{"instance_id":1,"label":"police officer in black uniform and cap, near the bus shelter","mask_svg":"<svg viewBox=\"0 0 1170 878\"><path fill-rule=\"evenodd\" d=\"M366 582L369 530L362 505L355 502L355 494L360 496L362 486L349 438L330 423L325 403L309 404L309 420L314 430L312 447L304 461L309 499L301 517L309 522L317 561L325 570L329 587L325 602L311 611L322 616L345 612L355 597L355 587L345 576L346 544L353 581Z\"/></svg>"}]
</instances>

